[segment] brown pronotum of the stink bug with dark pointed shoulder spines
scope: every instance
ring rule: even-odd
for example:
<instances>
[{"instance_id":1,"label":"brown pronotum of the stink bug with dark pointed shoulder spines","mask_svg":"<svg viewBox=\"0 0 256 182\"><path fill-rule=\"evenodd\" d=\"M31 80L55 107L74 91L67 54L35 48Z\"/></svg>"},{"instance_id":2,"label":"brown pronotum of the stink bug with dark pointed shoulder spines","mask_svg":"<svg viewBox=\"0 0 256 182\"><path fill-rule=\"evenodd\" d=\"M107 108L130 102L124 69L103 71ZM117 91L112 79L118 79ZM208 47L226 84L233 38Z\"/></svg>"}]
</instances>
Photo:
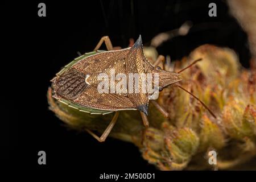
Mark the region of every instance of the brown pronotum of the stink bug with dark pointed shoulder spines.
<instances>
[{"instance_id":1,"label":"brown pronotum of the stink bug with dark pointed shoulder spines","mask_svg":"<svg viewBox=\"0 0 256 182\"><path fill-rule=\"evenodd\" d=\"M139 36L138 40L133 45L133 47L130 48L125 61L126 61L127 75L129 73L133 73L133 74L138 73L139 75L140 73L146 74L150 69L154 68L148 62L146 57L144 57L141 36ZM129 76L127 77L127 80L128 80L128 83L133 83L133 80L131 80ZM132 93L128 93L128 97L130 98L131 102L133 102L134 106L138 110L143 111L143 113L147 114L148 94L142 93L142 84L139 85L139 93L135 93L135 90L133 90Z\"/></svg>"}]
</instances>

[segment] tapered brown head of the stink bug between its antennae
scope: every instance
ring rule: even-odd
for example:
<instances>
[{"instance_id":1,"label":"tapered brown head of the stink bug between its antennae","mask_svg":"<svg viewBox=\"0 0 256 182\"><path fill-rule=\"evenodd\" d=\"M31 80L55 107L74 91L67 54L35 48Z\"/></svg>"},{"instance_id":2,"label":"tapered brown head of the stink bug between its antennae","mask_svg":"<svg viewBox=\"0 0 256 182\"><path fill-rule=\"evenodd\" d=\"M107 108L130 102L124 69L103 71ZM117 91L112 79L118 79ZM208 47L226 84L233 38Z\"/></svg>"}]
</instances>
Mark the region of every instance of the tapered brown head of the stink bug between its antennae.
<instances>
[{"instance_id":1,"label":"tapered brown head of the stink bug between its antennae","mask_svg":"<svg viewBox=\"0 0 256 182\"><path fill-rule=\"evenodd\" d=\"M156 67L153 73L158 74L159 91L162 91L163 88L168 85L175 84L176 82L181 81L181 79L179 78L179 76L181 75L180 73L168 72L160 67Z\"/></svg>"}]
</instances>

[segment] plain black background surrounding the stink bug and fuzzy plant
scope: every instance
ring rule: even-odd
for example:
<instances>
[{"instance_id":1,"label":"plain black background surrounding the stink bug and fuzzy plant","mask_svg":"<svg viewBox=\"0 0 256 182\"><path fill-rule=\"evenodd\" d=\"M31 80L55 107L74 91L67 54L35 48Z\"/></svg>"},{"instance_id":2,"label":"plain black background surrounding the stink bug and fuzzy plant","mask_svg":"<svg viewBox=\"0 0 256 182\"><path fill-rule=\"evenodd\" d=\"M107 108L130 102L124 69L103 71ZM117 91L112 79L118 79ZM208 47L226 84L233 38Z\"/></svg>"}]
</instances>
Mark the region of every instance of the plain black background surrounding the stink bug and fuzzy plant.
<instances>
[{"instance_id":1,"label":"plain black background surrounding the stink bug and fuzzy plant","mask_svg":"<svg viewBox=\"0 0 256 182\"><path fill-rule=\"evenodd\" d=\"M38 16L38 3L46 3L46 17ZM208 16L210 2L217 17ZM108 138L98 143L78 133L48 110L49 80L61 67L90 52L109 35L113 46L127 47L129 38L142 35L145 45L158 33L178 28L186 20L195 27L158 48L172 60L188 55L205 43L233 48L244 67L249 66L247 36L229 15L225 1L31 1L1 5L5 88L2 101L5 167L15 169L154 170L131 143ZM104 47L102 47L104 49ZM7 64L7 65L5 65ZM38 151L47 165L38 165ZM2 161L3 161L2 160ZM7 165L7 166L6 166Z\"/></svg>"}]
</instances>

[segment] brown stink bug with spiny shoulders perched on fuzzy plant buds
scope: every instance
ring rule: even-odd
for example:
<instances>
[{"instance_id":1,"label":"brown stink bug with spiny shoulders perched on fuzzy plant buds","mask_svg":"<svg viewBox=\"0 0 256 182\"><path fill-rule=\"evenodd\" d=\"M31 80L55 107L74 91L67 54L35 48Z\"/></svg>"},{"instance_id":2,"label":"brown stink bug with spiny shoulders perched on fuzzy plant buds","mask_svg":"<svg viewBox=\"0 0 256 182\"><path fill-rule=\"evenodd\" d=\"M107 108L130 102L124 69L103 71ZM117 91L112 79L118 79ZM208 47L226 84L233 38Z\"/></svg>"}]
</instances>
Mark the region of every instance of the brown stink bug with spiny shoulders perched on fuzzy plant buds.
<instances>
[{"instance_id":1,"label":"brown stink bug with spiny shoulders perched on fuzzy plant buds","mask_svg":"<svg viewBox=\"0 0 256 182\"><path fill-rule=\"evenodd\" d=\"M99 51L98 49L104 42L108 51ZM191 65L199 60L193 61ZM104 142L115 125L119 111L121 110L139 110L144 126L148 127L148 101L151 100L152 104L156 106L160 113L162 113L164 117L168 117L168 113L155 101L157 98L153 96L156 92L159 90L161 91L168 85L185 90L176 83L181 81L181 79L179 79L181 72L191 67L191 65L176 73L165 71L158 67L158 64L162 61L164 61L164 56L162 55L158 57L154 65L146 59L143 54L141 36L139 36L137 42L135 42L133 46L117 50L113 49L109 37L104 36L101 38L96 48L94 48L93 52L85 53L84 55L77 57L56 74L56 77L51 80L53 89L52 97L58 102L62 102L74 109L90 114L104 115L115 112L112 121L109 123L101 137L98 137L90 130L86 130L99 142ZM111 80L113 69L115 70L115 73L122 74L122 76L125 76L128 80L129 84L126 80L126 82L123 82L124 85L122 85L125 86L126 89L123 89L124 92L119 93L99 92L99 75L106 75L107 77L110 77ZM116 75L115 73L114 76ZM134 89L131 89L132 92L130 92L130 90L128 91L127 88L129 89L131 86L130 80L133 79L130 77L131 73L144 74L143 76L151 74L154 79L149 82L153 82L157 87L153 92L141 92L143 86L139 85L139 92L134 93ZM117 83L110 82L108 87L117 88ZM185 92L188 91L185 90ZM192 93L188 93L200 101L199 98ZM209 110L203 102L201 102L201 104ZM209 112L215 118L212 111L209 110Z\"/></svg>"}]
</instances>

